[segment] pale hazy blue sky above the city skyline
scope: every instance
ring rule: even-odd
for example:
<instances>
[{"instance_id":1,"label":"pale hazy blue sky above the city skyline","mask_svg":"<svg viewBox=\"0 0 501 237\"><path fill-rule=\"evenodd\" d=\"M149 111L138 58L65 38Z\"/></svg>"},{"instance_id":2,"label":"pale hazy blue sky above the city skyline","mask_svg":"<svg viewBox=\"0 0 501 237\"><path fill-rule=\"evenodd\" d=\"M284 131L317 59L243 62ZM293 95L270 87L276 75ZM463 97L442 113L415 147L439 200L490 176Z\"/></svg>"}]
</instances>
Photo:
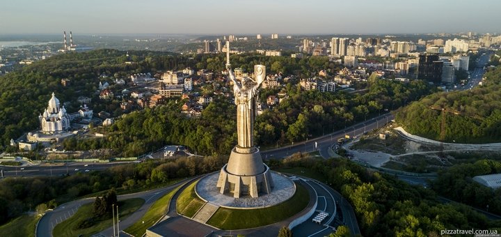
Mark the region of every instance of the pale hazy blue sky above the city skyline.
<instances>
[{"instance_id":1,"label":"pale hazy blue sky above the city skyline","mask_svg":"<svg viewBox=\"0 0 501 237\"><path fill-rule=\"evenodd\" d=\"M6 0L9 33L501 32L498 0Z\"/></svg>"}]
</instances>

